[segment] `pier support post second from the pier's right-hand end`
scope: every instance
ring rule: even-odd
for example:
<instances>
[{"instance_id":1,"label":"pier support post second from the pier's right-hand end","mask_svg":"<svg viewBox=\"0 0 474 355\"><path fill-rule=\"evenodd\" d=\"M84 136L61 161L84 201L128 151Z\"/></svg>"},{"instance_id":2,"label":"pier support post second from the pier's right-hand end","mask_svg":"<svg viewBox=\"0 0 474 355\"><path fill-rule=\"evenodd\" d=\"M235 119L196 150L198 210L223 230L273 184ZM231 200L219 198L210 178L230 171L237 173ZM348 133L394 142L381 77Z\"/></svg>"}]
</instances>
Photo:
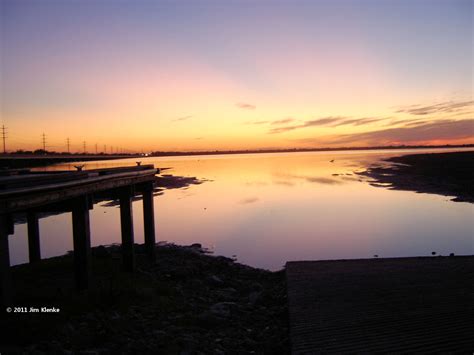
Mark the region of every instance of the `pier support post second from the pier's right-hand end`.
<instances>
[{"instance_id":1,"label":"pier support post second from the pier's right-hand end","mask_svg":"<svg viewBox=\"0 0 474 355\"><path fill-rule=\"evenodd\" d=\"M122 230L122 268L124 271L135 270L135 253L133 237L132 187L120 191L120 226Z\"/></svg>"}]
</instances>

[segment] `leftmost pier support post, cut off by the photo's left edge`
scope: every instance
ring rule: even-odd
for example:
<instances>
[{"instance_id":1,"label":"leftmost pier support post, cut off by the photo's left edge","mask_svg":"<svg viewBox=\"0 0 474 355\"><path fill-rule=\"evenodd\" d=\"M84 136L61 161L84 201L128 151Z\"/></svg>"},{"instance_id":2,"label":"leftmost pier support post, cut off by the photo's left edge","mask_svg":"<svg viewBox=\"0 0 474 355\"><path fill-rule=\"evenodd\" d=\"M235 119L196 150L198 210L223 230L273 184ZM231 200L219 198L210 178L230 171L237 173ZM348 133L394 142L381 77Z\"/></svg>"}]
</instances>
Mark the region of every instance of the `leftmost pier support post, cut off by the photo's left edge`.
<instances>
[{"instance_id":1,"label":"leftmost pier support post, cut off by the photo's left edge","mask_svg":"<svg viewBox=\"0 0 474 355\"><path fill-rule=\"evenodd\" d=\"M0 304L2 306L9 305L12 294L8 230L8 217L5 215L0 215Z\"/></svg>"}]
</instances>

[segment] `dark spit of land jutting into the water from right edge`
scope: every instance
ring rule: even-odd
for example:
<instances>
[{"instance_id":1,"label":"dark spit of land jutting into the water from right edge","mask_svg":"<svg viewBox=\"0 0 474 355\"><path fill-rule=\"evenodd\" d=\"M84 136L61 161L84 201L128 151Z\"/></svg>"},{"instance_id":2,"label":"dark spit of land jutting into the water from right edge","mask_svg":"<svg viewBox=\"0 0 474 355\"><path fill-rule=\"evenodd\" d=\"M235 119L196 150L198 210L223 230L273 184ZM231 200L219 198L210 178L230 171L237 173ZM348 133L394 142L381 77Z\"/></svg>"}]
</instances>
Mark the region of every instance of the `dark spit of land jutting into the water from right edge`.
<instances>
[{"instance_id":1,"label":"dark spit of land jutting into the water from right edge","mask_svg":"<svg viewBox=\"0 0 474 355\"><path fill-rule=\"evenodd\" d=\"M372 166L361 174L374 179L374 186L474 203L474 152L410 154L386 162L389 166Z\"/></svg>"}]
</instances>

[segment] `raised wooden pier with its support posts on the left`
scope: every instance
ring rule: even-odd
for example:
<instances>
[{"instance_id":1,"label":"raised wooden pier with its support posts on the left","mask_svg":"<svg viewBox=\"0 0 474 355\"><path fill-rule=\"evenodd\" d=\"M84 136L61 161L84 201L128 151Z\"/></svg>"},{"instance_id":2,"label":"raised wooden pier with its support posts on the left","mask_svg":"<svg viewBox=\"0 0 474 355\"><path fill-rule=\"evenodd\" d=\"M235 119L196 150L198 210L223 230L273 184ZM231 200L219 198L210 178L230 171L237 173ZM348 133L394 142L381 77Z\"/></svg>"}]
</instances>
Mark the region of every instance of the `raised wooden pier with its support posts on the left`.
<instances>
[{"instance_id":1,"label":"raised wooden pier with its support posts on the left","mask_svg":"<svg viewBox=\"0 0 474 355\"><path fill-rule=\"evenodd\" d=\"M41 260L39 213L72 212L74 273L79 291L89 286L91 236L89 210L95 202L120 202L123 270L135 268L132 198L143 196L145 245L155 258L153 188L158 169L140 165L83 171L34 172L28 169L0 171L0 302L8 304L13 290L10 279L9 235L14 232L15 214L26 214L30 263Z\"/></svg>"}]
</instances>

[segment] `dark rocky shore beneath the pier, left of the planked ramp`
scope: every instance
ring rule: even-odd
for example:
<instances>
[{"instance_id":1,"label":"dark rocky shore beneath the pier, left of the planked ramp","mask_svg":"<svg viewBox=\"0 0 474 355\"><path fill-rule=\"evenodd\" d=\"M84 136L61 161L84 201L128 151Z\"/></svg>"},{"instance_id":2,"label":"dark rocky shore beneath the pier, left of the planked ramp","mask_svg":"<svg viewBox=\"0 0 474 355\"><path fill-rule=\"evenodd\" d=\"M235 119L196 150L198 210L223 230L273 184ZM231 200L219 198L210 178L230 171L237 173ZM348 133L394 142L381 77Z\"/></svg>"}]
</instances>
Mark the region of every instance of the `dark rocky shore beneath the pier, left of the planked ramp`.
<instances>
[{"instance_id":1,"label":"dark rocky shore beneath the pier, left of the planked ramp","mask_svg":"<svg viewBox=\"0 0 474 355\"><path fill-rule=\"evenodd\" d=\"M34 354L262 354L289 352L284 271L208 255L199 244L136 245L137 271L120 247L93 248L93 285L74 291L72 255L12 268L16 307L4 313L1 352Z\"/></svg>"}]
</instances>

